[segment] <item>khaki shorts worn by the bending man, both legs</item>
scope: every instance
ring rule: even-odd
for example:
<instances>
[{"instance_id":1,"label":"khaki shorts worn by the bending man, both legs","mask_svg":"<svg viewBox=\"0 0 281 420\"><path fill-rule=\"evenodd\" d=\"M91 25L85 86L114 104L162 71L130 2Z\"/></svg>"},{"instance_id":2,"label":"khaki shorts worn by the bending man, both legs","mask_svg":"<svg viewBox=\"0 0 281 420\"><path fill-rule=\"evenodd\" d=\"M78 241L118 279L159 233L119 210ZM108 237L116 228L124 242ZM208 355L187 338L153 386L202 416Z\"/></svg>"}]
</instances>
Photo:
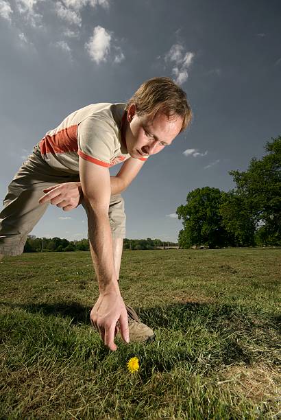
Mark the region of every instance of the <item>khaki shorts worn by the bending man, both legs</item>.
<instances>
[{"instance_id":1,"label":"khaki shorts worn by the bending man, both legs","mask_svg":"<svg viewBox=\"0 0 281 420\"><path fill-rule=\"evenodd\" d=\"M41 157L38 145L23 163L8 187L0 213L0 254L20 255L27 235L38 223L49 204L38 200L43 189L52 185L79 181L79 175L53 170ZM112 237L125 237L124 200L120 194L111 196L108 212Z\"/></svg>"}]
</instances>

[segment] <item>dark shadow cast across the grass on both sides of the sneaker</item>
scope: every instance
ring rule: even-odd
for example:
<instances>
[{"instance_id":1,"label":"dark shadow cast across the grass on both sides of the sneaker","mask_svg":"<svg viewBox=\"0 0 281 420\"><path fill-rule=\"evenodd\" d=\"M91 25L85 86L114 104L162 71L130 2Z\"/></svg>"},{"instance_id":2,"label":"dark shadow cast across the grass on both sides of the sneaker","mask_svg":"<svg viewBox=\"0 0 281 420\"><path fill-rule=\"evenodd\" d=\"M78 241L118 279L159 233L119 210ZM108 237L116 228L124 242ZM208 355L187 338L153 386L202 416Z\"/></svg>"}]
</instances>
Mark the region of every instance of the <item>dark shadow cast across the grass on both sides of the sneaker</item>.
<instances>
[{"instance_id":1,"label":"dark shadow cast across the grass on both sides of the sneaker","mask_svg":"<svg viewBox=\"0 0 281 420\"><path fill-rule=\"evenodd\" d=\"M69 318L72 325L90 325L91 307L80 303L19 305L4 303L4 305L21 308L31 314ZM246 344L251 341L254 345L257 332L259 345L265 344L268 349L276 349L278 345L276 339L278 318L272 317L269 320L262 317L262 314L249 313L247 307L188 302L156 306L145 310L138 308L137 312L144 323L153 329L160 330L158 336L162 356L157 361L158 371L170 371L175 363L180 361L197 364L201 359L207 362L209 354L212 354L216 363L220 361L223 364L239 362L251 364L256 354L251 346ZM167 345L164 341L165 336L171 337L167 339ZM192 350L188 351L188 346ZM146 348L149 349L149 347ZM155 349L151 351L154 353ZM155 363L154 357L151 363Z\"/></svg>"}]
</instances>

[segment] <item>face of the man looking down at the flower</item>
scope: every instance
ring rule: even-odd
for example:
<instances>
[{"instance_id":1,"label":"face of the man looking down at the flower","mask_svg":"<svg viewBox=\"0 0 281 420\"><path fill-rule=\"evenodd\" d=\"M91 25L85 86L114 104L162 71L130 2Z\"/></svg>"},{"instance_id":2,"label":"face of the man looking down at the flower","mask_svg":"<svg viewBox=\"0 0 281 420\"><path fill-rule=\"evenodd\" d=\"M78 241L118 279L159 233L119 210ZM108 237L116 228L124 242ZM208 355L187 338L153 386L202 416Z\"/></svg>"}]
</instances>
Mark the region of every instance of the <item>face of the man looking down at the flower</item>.
<instances>
[{"instance_id":1,"label":"face of the man looking down at the flower","mask_svg":"<svg viewBox=\"0 0 281 420\"><path fill-rule=\"evenodd\" d=\"M156 154L172 143L181 128L182 118L178 115L169 119L158 113L153 120L147 116L138 117L136 106L132 104L127 110L127 151L136 159Z\"/></svg>"}]
</instances>

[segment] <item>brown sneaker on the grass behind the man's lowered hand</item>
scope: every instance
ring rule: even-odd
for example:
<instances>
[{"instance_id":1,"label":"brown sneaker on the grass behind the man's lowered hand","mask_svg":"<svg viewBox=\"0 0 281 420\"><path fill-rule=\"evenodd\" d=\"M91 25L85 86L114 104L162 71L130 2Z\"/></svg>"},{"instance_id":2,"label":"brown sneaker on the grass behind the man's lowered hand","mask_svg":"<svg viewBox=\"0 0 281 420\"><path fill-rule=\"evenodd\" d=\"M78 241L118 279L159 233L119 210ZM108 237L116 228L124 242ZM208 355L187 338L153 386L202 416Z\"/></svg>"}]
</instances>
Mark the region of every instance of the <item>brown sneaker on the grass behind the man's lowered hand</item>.
<instances>
[{"instance_id":1,"label":"brown sneaker on the grass behind the man's lowered hand","mask_svg":"<svg viewBox=\"0 0 281 420\"><path fill-rule=\"evenodd\" d=\"M138 315L132 307L127 305L125 306L129 323L130 342L147 342L154 340L154 331L152 331L151 328L147 327L147 325L141 322L140 318L138 318ZM117 325L118 324L119 323L117 323ZM120 331L118 335L120 336Z\"/></svg>"}]
</instances>

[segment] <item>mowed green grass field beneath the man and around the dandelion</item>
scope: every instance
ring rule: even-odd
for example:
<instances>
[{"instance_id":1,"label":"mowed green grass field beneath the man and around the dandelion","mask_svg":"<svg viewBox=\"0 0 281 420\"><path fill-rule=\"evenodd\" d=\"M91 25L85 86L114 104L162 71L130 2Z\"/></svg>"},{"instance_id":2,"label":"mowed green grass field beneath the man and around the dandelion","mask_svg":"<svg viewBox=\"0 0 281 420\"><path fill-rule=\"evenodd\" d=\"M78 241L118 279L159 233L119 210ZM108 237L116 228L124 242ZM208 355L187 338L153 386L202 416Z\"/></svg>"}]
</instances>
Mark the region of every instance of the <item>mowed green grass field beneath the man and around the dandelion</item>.
<instances>
[{"instance_id":1,"label":"mowed green grass field beneath the man and around the dandelion","mask_svg":"<svg viewBox=\"0 0 281 420\"><path fill-rule=\"evenodd\" d=\"M157 339L115 352L90 327L89 253L0 275L1 419L280 418L281 249L125 251L123 299Z\"/></svg>"}]
</instances>

